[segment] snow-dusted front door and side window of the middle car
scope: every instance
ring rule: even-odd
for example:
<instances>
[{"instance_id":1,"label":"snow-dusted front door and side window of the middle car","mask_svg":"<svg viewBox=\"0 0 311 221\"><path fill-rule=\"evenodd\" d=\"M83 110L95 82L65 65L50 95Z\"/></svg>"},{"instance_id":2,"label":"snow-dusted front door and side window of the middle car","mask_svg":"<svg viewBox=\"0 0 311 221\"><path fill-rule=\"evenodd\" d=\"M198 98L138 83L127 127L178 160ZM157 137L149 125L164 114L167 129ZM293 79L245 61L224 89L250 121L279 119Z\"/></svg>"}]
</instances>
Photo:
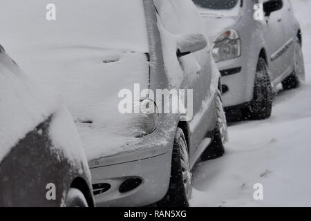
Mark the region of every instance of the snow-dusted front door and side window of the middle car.
<instances>
[{"instance_id":1,"label":"snow-dusted front door and side window of the middle car","mask_svg":"<svg viewBox=\"0 0 311 221\"><path fill-rule=\"evenodd\" d=\"M206 36L205 23L194 3L188 0L155 0L164 28L174 36L197 34ZM182 88L193 90L193 114L190 122L191 148L194 155L196 148L204 139L212 121L209 113L214 113L214 102L209 91L211 84L211 56L209 46L191 55L180 57L184 80ZM209 103L210 102L210 103Z\"/></svg>"}]
</instances>

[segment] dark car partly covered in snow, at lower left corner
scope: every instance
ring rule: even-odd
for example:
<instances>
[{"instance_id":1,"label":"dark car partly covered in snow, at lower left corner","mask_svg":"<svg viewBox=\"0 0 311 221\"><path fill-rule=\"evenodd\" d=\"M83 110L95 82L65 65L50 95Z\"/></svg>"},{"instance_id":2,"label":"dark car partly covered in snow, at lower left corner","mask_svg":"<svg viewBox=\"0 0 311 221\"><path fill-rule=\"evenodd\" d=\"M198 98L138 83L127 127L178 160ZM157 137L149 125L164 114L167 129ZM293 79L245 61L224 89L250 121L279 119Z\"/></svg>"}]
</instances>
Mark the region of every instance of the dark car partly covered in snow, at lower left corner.
<instances>
[{"instance_id":1,"label":"dark car partly covered in snow, at lower left corner","mask_svg":"<svg viewBox=\"0 0 311 221\"><path fill-rule=\"evenodd\" d=\"M67 109L0 46L0 206L94 206L91 173Z\"/></svg>"}]
</instances>

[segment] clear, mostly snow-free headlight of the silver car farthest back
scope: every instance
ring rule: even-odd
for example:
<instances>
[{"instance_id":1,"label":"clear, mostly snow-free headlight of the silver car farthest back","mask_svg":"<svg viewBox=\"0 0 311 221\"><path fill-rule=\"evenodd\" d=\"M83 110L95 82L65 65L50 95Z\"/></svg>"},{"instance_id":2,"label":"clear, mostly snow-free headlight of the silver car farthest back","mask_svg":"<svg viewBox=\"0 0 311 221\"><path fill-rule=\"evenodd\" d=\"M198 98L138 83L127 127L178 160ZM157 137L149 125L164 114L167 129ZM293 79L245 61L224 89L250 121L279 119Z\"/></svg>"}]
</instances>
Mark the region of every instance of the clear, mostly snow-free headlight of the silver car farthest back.
<instances>
[{"instance_id":1,"label":"clear, mostly snow-free headlight of the silver car farthest back","mask_svg":"<svg viewBox=\"0 0 311 221\"><path fill-rule=\"evenodd\" d=\"M240 57L241 39L236 30L223 32L213 44L213 57L216 62Z\"/></svg>"}]
</instances>

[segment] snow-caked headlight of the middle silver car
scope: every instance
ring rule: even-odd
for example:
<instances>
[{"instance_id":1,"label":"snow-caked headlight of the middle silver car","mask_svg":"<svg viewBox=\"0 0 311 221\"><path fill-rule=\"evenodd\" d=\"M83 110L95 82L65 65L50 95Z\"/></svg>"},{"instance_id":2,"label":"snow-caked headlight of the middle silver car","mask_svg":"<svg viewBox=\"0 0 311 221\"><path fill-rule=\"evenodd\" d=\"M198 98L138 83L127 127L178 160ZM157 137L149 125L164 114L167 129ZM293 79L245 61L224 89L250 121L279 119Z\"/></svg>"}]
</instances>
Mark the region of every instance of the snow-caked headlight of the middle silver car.
<instances>
[{"instance_id":1,"label":"snow-caked headlight of the middle silver car","mask_svg":"<svg viewBox=\"0 0 311 221\"><path fill-rule=\"evenodd\" d=\"M140 103L140 113L135 114L135 126L138 130L135 137L143 137L156 130L158 124L158 108L151 99L144 99Z\"/></svg>"}]
</instances>

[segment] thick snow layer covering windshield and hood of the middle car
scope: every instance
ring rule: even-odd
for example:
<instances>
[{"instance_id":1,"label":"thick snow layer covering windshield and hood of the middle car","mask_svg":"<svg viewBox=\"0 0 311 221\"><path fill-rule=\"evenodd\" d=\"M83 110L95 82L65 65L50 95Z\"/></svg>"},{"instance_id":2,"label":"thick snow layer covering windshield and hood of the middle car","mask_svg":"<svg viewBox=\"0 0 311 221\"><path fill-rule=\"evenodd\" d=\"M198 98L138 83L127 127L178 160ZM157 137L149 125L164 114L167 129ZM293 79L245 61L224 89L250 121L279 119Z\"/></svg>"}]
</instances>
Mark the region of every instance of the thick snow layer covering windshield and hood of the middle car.
<instances>
[{"instance_id":1,"label":"thick snow layer covering windshield and hood of the middle car","mask_svg":"<svg viewBox=\"0 0 311 221\"><path fill-rule=\"evenodd\" d=\"M56 21L46 20L48 3L0 3L1 44L68 106L88 160L124 151L139 132L138 116L120 114L118 93L149 84L142 1L55 0Z\"/></svg>"}]
</instances>

